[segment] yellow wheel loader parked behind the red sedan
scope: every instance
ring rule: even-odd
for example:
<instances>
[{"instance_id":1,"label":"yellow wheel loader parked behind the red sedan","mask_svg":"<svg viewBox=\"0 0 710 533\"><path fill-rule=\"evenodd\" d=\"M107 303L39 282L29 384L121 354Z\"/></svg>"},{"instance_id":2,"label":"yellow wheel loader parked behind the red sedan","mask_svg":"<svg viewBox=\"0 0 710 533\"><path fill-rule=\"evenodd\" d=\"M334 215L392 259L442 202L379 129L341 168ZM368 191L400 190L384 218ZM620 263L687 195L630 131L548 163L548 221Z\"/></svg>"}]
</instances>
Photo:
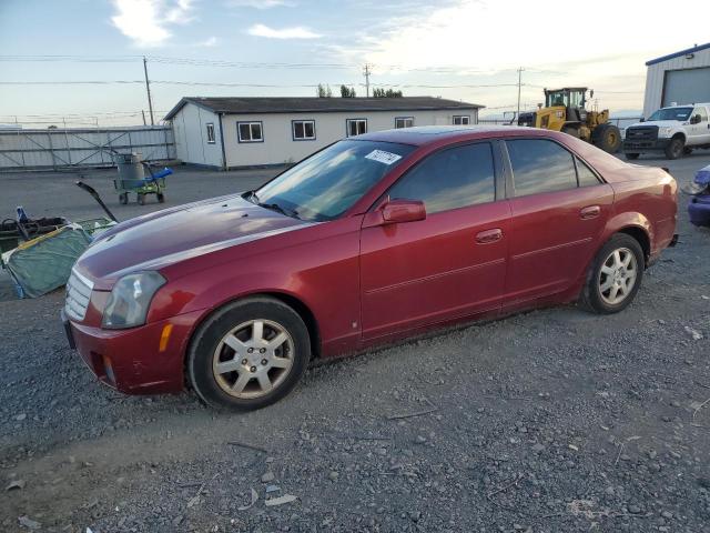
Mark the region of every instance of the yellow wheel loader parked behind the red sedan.
<instances>
[{"instance_id":1,"label":"yellow wheel loader parked behind the red sedan","mask_svg":"<svg viewBox=\"0 0 710 533\"><path fill-rule=\"evenodd\" d=\"M592 98L595 91L590 91ZM518 125L561 131L587 142L605 152L613 153L621 145L619 128L607 123L609 110L587 111L586 87L545 89L545 107L535 112L520 113Z\"/></svg>"}]
</instances>

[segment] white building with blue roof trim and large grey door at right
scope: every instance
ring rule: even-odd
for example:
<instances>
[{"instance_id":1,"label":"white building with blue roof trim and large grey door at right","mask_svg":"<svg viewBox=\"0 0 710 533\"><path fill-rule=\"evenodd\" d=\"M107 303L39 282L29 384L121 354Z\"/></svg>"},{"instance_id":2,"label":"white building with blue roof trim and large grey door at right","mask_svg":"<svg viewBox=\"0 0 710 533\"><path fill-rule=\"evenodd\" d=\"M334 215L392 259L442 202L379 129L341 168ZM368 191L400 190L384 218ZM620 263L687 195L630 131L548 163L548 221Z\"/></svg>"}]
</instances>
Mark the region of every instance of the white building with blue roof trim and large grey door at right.
<instances>
[{"instance_id":1,"label":"white building with blue roof trim and large grey door at right","mask_svg":"<svg viewBox=\"0 0 710 533\"><path fill-rule=\"evenodd\" d=\"M710 102L710 42L648 61L643 117L668 105Z\"/></svg>"}]
</instances>

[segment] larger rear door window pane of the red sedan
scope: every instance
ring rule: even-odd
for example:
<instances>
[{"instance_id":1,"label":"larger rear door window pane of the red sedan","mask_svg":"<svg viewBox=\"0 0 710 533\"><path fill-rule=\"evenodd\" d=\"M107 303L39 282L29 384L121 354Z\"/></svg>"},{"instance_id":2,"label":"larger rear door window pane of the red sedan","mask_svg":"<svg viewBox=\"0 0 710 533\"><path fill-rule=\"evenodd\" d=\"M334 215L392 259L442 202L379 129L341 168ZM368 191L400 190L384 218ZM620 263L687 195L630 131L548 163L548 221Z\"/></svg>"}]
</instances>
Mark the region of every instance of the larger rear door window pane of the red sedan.
<instances>
[{"instance_id":1,"label":"larger rear door window pane of the red sedan","mask_svg":"<svg viewBox=\"0 0 710 533\"><path fill-rule=\"evenodd\" d=\"M545 139L516 139L506 141L506 147L516 197L577 187L572 154L559 144Z\"/></svg>"}]
</instances>

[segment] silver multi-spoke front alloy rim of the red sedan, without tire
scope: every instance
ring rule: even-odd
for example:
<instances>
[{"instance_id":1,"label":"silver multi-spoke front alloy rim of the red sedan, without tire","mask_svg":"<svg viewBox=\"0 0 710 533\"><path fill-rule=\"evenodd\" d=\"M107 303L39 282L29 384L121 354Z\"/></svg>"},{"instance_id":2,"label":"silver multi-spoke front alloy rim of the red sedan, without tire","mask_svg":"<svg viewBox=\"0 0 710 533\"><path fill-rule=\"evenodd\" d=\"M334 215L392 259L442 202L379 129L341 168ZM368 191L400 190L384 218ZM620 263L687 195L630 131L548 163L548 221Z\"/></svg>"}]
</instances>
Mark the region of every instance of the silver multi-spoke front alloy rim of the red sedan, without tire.
<instances>
[{"instance_id":1,"label":"silver multi-spoke front alloy rim of the red sedan, without tire","mask_svg":"<svg viewBox=\"0 0 710 533\"><path fill-rule=\"evenodd\" d=\"M277 389L293 363L294 343L286 329L270 320L251 320L222 338L212 371L227 394L255 399Z\"/></svg>"}]
</instances>

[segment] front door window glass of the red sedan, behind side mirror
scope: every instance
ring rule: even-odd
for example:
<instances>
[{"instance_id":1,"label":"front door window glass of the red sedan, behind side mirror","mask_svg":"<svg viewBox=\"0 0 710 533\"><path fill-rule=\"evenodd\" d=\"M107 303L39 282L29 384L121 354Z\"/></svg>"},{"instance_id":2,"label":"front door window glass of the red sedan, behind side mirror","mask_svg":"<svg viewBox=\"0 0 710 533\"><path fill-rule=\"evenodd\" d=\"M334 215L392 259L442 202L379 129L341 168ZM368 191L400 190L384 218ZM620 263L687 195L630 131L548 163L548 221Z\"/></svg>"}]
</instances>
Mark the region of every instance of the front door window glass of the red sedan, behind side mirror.
<instances>
[{"instance_id":1,"label":"front door window glass of the red sedan, behind side mirror","mask_svg":"<svg viewBox=\"0 0 710 533\"><path fill-rule=\"evenodd\" d=\"M389 190L392 200L422 200L428 214L496 199L490 143L450 148L429 155Z\"/></svg>"}]
</instances>

